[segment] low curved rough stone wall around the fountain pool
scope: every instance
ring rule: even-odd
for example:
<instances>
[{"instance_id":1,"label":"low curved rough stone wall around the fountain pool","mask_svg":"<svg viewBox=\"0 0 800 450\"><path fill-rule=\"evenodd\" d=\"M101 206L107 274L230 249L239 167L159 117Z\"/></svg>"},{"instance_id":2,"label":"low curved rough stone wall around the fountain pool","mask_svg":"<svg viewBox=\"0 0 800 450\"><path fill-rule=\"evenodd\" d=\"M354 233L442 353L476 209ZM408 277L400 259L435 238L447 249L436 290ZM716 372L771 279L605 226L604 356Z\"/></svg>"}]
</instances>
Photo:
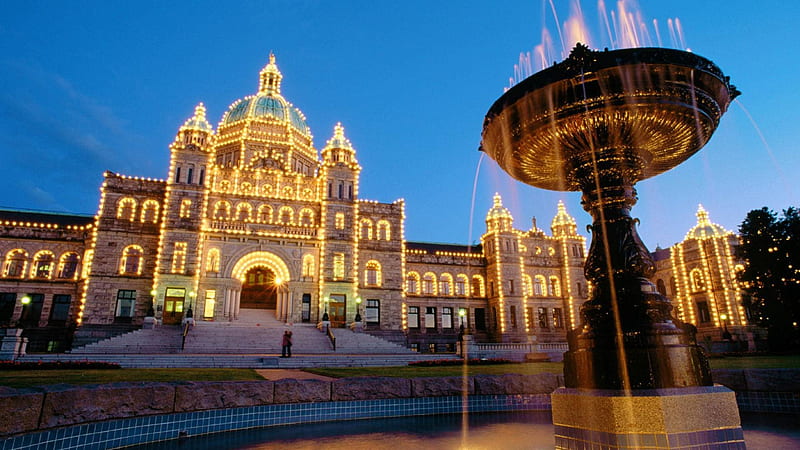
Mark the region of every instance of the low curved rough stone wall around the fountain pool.
<instances>
[{"instance_id":1,"label":"low curved rough stone wall around the fountain pool","mask_svg":"<svg viewBox=\"0 0 800 450\"><path fill-rule=\"evenodd\" d=\"M714 379L737 393L784 392L800 397L798 369L715 370ZM391 398L550 394L557 374L477 375L444 378L342 378L180 383L0 387L0 437L113 419L192 411ZM797 402L800 399L796 399Z\"/></svg>"}]
</instances>

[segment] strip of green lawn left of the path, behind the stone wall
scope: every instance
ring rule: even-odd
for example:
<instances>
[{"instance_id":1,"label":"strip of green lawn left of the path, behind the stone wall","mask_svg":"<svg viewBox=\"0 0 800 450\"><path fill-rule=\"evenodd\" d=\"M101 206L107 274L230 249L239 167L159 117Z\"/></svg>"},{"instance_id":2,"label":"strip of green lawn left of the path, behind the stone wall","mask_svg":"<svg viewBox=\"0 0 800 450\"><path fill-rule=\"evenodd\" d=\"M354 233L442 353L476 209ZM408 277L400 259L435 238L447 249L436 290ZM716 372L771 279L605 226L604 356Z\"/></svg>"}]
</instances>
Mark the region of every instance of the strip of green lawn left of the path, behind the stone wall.
<instances>
[{"instance_id":1,"label":"strip of green lawn left of the path, behind the stone wall","mask_svg":"<svg viewBox=\"0 0 800 450\"><path fill-rule=\"evenodd\" d=\"M241 381L263 380L253 369L119 369L2 370L0 386L13 388L48 384L91 384L117 381Z\"/></svg>"}]
</instances>

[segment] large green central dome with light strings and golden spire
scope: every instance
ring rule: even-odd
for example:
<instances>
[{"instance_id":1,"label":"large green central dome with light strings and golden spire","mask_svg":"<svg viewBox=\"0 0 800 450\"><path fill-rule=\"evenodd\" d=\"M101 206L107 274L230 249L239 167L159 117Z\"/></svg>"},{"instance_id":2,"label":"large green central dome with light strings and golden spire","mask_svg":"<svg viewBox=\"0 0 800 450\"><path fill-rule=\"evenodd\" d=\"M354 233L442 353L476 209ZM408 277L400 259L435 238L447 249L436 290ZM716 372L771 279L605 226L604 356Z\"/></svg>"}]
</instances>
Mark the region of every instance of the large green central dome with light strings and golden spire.
<instances>
[{"instance_id":1,"label":"large green central dome with light strings and golden spire","mask_svg":"<svg viewBox=\"0 0 800 450\"><path fill-rule=\"evenodd\" d=\"M222 116L220 125L231 125L246 119L275 120L288 123L310 137L311 129L303 113L281 95L283 75L275 64L275 55L269 55L267 64L259 74L258 93L233 102Z\"/></svg>"}]
</instances>

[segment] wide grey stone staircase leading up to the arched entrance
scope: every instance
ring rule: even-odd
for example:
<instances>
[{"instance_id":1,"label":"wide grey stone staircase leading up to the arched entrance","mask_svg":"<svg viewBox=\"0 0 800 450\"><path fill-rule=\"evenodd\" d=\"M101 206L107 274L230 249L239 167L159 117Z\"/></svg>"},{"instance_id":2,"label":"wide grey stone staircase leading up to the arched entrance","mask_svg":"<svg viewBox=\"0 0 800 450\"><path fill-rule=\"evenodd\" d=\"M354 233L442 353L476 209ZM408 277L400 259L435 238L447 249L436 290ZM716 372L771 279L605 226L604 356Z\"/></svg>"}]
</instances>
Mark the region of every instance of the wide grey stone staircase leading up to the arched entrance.
<instances>
[{"instance_id":1,"label":"wide grey stone staircase leading up to the arched entrance","mask_svg":"<svg viewBox=\"0 0 800 450\"><path fill-rule=\"evenodd\" d=\"M286 330L292 331L292 358L279 358ZM313 324L285 324L274 311L245 310L230 322L198 321L181 349L182 327L162 325L136 330L75 348L65 354L28 355L22 360L94 360L123 367L351 367L405 365L422 359L454 358L428 355L349 329L332 329L336 350L328 336Z\"/></svg>"}]
</instances>

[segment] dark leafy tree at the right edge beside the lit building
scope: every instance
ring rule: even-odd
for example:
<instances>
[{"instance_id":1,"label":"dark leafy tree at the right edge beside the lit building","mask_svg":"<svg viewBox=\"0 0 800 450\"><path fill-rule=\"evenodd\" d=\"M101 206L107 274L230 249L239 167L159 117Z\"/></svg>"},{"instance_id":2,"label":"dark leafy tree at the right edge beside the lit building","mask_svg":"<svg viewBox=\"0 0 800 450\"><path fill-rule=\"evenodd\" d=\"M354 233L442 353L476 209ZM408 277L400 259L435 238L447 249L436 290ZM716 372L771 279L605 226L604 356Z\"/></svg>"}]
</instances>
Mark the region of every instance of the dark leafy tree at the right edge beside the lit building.
<instances>
[{"instance_id":1,"label":"dark leafy tree at the right edge beside the lit building","mask_svg":"<svg viewBox=\"0 0 800 450\"><path fill-rule=\"evenodd\" d=\"M773 350L800 350L800 211L782 216L767 209L750 211L739 226L745 261L738 273L748 294L750 320L768 330Z\"/></svg>"}]
</instances>

